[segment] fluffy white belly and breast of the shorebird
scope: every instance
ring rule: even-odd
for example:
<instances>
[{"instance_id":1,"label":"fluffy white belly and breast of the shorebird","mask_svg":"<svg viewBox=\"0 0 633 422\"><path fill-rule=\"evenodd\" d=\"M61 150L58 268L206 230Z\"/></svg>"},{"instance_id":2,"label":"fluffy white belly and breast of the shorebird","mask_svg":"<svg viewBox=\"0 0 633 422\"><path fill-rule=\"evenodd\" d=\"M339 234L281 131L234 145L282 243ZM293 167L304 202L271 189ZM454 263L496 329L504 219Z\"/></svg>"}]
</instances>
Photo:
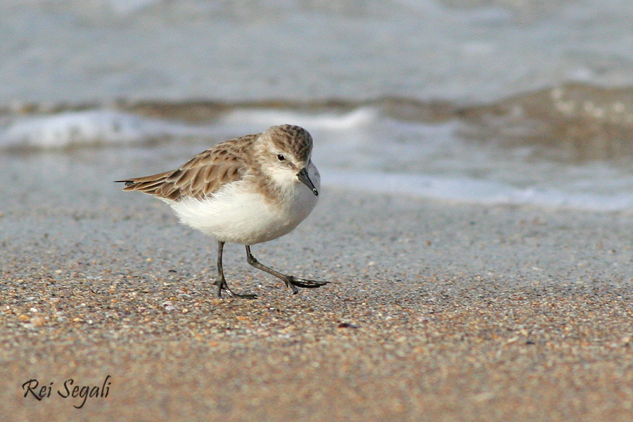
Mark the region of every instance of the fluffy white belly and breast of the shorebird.
<instances>
[{"instance_id":1,"label":"fluffy white belly and breast of the shorebird","mask_svg":"<svg viewBox=\"0 0 633 422\"><path fill-rule=\"evenodd\" d=\"M269 201L249 191L244 181L229 184L212 198L187 198L170 205L180 221L219 241L255 245L295 229L316 205L317 197L304 184L283 191L281 200Z\"/></svg>"}]
</instances>

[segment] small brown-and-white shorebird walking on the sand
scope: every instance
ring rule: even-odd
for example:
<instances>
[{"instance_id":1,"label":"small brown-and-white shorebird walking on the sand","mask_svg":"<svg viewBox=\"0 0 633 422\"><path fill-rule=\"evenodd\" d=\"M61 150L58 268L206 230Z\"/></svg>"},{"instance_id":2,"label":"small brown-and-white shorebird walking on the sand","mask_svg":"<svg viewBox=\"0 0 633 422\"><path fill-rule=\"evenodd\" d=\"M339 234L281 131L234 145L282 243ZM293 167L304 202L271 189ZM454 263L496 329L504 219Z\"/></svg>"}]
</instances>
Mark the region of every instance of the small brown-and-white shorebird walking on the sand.
<instances>
[{"instance_id":1,"label":"small brown-and-white shorebird walking on the sand","mask_svg":"<svg viewBox=\"0 0 633 422\"><path fill-rule=\"evenodd\" d=\"M316 206L321 177L312 163L312 136L302 127L281 124L264 132L217 143L176 170L117 180L124 191L165 201L180 222L217 241L217 297L256 298L229 288L222 267L225 243L245 245L248 264L281 279L293 294L319 288L314 281L261 264L252 245L295 229Z\"/></svg>"}]
</instances>

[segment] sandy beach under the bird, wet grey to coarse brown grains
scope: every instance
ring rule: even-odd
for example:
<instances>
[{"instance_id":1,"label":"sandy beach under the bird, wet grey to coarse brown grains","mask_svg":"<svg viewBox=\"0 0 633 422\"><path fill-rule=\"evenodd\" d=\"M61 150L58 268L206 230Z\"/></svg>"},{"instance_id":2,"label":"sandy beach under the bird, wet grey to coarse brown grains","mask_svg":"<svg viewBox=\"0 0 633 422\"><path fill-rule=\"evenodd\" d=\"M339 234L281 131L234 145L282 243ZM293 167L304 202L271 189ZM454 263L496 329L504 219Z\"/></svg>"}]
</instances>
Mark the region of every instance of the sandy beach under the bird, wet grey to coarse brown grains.
<instances>
[{"instance_id":1,"label":"sandy beach under the bird, wet grey to coarse brown grains","mask_svg":"<svg viewBox=\"0 0 633 422\"><path fill-rule=\"evenodd\" d=\"M633 417L630 215L330 186L292 234L253 248L330 284L293 296L229 245L231 287L259 298L219 300L215 243L111 184L141 165L110 164L12 185L5 163L5 420Z\"/></svg>"}]
</instances>

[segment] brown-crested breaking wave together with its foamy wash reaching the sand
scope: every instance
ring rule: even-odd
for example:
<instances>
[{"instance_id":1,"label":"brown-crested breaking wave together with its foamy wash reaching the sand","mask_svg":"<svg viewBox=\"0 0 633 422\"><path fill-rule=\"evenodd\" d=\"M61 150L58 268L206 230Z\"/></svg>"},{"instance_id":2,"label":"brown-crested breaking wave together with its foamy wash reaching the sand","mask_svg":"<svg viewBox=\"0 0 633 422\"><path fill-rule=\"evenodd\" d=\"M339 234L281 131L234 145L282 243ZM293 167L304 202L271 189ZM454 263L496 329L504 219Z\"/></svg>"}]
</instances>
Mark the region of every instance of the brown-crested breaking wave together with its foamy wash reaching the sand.
<instances>
[{"instance_id":1,"label":"brown-crested breaking wave together with its foamy wash reaching the sand","mask_svg":"<svg viewBox=\"0 0 633 422\"><path fill-rule=\"evenodd\" d=\"M568 84L464 106L402 98L322 103L37 106L0 115L0 151L141 148L178 164L274 124L306 127L324 186L587 210L633 207L633 89ZM122 153L129 153L125 149ZM106 154L108 155L108 154Z\"/></svg>"}]
</instances>

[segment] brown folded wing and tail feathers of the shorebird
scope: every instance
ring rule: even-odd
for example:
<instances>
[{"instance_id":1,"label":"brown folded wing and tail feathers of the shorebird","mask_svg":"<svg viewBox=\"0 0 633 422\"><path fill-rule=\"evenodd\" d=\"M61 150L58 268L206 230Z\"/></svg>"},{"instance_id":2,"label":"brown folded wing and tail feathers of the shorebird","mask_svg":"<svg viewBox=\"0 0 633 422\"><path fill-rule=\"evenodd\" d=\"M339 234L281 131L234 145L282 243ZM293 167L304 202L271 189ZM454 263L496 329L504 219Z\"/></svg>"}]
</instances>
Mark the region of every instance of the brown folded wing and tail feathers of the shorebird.
<instances>
[{"instance_id":1,"label":"brown folded wing and tail feathers of the shorebird","mask_svg":"<svg viewBox=\"0 0 633 422\"><path fill-rule=\"evenodd\" d=\"M205 198L248 173L249 149L256 136L218 143L170 172L117 181L125 184L124 191L139 191L160 198Z\"/></svg>"}]
</instances>

